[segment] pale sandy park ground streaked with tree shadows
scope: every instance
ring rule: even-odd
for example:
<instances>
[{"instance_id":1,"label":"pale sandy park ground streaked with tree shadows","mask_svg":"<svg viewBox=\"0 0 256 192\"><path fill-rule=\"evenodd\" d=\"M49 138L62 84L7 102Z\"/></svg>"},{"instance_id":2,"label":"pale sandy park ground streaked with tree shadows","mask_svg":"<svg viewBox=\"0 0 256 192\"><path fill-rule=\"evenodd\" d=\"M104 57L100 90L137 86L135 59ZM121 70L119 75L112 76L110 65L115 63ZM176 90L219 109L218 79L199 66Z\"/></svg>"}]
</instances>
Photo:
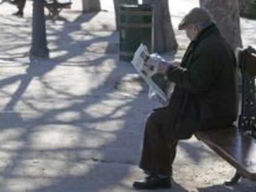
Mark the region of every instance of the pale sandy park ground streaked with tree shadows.
<instances>
[{"instance_id":1,"label":"pale sandy park ground streaked with tree shadows","mask_svg":"<svg viewBox=\"0 0 256 192\"><path fill-rule=\"evenodd\" d=\"M32 3L25 17L0 5L0 192L126 192L143 177L137 167L144 123L156 100L129 63L119 62L112 1L81 14L77 0L47 20L50 60L30 64ZM180 58L189 41L177 23L194 0L171 0ZM241 19L244 46L256 47L256 20ZM165 55L168 58L168 54ZM180 141L171 190L256 191L197 141Z\"/></svg>"}]
</instances>

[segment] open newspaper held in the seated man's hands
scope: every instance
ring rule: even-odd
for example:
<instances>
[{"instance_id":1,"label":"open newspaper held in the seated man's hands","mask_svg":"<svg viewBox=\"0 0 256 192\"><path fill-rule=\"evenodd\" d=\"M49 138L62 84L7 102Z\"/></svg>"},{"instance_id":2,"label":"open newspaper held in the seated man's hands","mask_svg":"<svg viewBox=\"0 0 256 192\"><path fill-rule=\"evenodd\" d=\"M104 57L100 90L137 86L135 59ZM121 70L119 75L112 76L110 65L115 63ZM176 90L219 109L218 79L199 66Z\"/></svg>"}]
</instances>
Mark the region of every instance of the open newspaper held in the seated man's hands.
<instances>
[{"instance_id":1,"label":"open newspaper held in the seated man's hands","mask_svg":"<svg viewBox=\"0 0 256 192\"><path fill-rule=\"evenodd\" d=\"M149 58L153 61L152 64L145 62ZM151 98L151 96L156 94L162 100L162 103L166 103L173 91L174 85L168 80L166 75L156 72L156 64L160 61L164 61L164 59L156 53L149 54L147 46L140 44L132 59L132 65L134 65L134 68L149 86L149 97Z\"/></svg>"}]
</instances>

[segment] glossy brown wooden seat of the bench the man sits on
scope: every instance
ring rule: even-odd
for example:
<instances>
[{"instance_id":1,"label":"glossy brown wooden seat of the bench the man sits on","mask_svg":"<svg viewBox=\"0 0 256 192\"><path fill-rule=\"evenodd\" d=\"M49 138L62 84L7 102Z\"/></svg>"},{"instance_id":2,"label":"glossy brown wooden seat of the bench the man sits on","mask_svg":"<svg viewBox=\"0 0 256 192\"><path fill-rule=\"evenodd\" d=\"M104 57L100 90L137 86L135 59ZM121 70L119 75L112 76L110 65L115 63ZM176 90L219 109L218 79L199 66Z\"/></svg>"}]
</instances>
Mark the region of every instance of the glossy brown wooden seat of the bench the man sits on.
<instances>
[{"instance_id":1,"label":"glossy brown wooden seat of the bench the man sits on","mask_svg":"<svg viewBox=\"0 0 256 192\"><path fill-rule=\"evenodd\" d=\"M236 127L200 130L195 133L213 151L237 169L241 175L256 181L256 140L243 135Z\"/></svg>"}]
</instances>

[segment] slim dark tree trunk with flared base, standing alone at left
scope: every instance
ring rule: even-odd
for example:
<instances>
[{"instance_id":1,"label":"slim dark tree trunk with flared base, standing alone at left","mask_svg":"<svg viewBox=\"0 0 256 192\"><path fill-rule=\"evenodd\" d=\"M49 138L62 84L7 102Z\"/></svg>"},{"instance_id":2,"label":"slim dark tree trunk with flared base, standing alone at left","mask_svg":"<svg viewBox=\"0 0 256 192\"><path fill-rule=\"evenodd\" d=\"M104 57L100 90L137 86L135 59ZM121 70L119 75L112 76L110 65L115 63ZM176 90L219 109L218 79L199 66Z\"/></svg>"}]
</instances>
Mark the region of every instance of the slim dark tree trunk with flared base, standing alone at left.
<instances>
[{"instance_id":1,"label":"slim dark tree trunk with flared base, standing alone at left","mask_svg":"<svg viewBox=\"0 0 256 192\"><path fill-rule=\"evenodd\" d=\"M45 29L45 9L44 2L41 0L34 0L33 2L32 48L30 49L30 60L32 60L33 57L49 58Z\"/></svg>"}]
</instances>

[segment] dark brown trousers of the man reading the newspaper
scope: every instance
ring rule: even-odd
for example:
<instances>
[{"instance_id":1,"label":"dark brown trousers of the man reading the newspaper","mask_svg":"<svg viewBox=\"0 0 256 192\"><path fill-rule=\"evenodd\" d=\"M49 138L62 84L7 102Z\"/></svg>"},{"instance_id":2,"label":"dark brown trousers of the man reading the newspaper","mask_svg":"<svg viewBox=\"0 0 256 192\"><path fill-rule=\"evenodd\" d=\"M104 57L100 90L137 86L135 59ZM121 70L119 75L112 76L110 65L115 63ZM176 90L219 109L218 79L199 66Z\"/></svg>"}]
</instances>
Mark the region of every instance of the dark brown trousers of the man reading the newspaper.
<instances>
[{"instance_id":1,"label":"dark brown trousers of the man reading the newspaper","mask_svg":"<svg viewBox=\"0 0 256 192\"><path fill-rule=\"evenodd\" d=\"M168 115L170 114L165 110L156 110L149 115L139 167L145 172L160 173L171 178L178 140L170 138L166 141L163 137L164 120Z\"/></svg>"}]
</instances>

